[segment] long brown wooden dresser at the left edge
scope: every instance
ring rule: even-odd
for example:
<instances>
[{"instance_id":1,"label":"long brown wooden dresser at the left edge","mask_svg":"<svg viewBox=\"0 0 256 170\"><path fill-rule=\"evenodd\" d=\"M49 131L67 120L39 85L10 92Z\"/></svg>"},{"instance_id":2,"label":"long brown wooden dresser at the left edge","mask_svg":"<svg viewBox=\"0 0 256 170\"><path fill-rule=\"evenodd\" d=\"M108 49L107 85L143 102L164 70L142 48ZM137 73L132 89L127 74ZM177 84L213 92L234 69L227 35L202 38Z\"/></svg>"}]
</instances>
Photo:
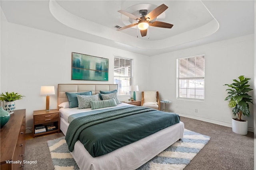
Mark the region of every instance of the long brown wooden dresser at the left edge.
<instances>
[{"instance_id":1,"label":"long brown wooden dresser at the left edge","mask_svg":"<svg viewBox=\"0 0 256 170\"><path fill-rule=\"evenodd\" d=\"M26 109L15 110L1 128L1 170L21 170L25 152Z\"/></svg>"}]
</instances>

